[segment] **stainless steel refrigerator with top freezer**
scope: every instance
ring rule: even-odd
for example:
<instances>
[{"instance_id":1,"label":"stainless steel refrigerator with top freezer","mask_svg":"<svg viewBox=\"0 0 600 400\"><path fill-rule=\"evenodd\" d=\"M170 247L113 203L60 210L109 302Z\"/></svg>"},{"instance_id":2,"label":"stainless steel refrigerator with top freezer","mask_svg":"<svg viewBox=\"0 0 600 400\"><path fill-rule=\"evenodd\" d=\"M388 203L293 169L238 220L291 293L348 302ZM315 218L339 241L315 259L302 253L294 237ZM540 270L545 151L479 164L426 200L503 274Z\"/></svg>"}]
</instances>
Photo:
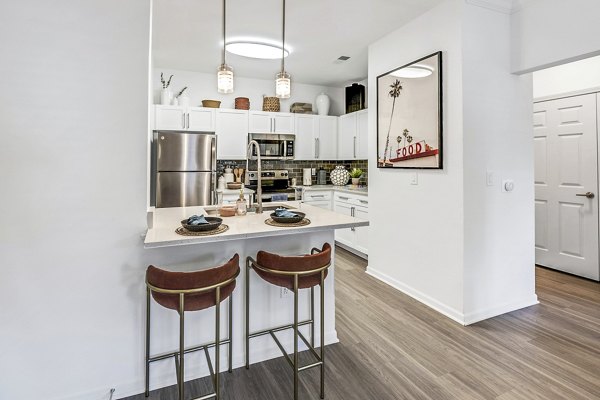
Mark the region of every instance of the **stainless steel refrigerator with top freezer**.
<instances>
[{"instance_id":1,"label":"stainless steel refrigerator with top freezer","mask_svg":"<svg viewBox=\"0 0 600 400\"><path fill-rule=\"evenodd\" d=\"M214 204L217 139L205 132L154 132L157 208Z\"/></svg>"}]
</instances>

